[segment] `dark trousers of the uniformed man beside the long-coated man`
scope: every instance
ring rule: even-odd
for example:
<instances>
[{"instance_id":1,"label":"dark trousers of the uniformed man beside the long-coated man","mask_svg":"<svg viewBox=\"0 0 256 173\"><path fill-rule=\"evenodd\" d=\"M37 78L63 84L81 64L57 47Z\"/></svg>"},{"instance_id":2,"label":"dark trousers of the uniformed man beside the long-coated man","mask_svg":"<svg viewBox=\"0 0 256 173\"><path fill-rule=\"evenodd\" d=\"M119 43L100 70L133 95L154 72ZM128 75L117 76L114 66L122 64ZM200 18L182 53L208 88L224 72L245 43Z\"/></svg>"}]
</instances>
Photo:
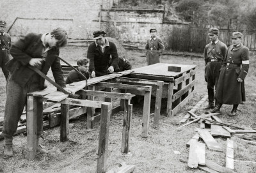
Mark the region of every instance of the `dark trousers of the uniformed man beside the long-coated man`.
<instances>
[{"instance_id":1,"label":"dark trousers of the uniformed man beside the long-coated man","mask_svg":"<svg viewBox=\"0 0 256 173\"><path fill-rule=\"evenodd\" d=\"M214 86L216 88L220 76L221 62L208 62L205 66L209 102L214 102Z\"/></svg>"}]
</instances>

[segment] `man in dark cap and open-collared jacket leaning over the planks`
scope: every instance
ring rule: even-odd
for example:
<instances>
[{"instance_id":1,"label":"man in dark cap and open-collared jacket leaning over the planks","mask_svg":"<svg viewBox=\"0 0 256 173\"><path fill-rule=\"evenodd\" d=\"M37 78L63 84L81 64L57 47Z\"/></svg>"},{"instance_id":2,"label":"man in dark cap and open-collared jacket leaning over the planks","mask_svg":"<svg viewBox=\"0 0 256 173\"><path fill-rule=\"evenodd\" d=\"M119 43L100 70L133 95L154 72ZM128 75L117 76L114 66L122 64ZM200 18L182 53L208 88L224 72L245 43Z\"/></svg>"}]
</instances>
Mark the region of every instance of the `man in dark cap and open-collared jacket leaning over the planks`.
<instances>
[{"instance_id":1,"label":"man in dark cap and open-collared jacket leaning over the planks","mask_svg":"<svg viewBox=\"0 0 256 173\"><path fill-rule=\"evenodd\" d=\"M118 66L118 54L115 43L108 41L105 31L93 32L95 42L88 47L87 58L90 59L89 72L91 77L107 75L108 71L113 73ZM109 61L112 57L112 63Z\"/></svg>"}]
</instances>

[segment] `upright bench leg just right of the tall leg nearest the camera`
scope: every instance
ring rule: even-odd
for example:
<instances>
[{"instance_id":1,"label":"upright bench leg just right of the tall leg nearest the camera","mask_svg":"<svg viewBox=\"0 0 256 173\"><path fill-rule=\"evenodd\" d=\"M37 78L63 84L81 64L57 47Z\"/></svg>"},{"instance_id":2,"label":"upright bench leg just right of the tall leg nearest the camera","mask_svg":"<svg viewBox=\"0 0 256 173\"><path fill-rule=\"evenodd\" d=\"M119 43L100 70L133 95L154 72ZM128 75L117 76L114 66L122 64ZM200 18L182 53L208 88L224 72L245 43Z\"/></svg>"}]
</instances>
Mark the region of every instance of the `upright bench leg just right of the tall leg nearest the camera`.
<instances>
[{"instance_id":1,"label":"upright bench leg just right of the tall leg nearest the camera","mask_svg":"<svg viewBox=\"0 0 256 173\"><path fill-rule=\"evenodd\" d=\"M125 100L124 109L124 124L122 132L122 147L121 152L127 154L129 152L129 137L131 127L132 105L129 104L129 100Z\"/></svg>"}]
</instances>

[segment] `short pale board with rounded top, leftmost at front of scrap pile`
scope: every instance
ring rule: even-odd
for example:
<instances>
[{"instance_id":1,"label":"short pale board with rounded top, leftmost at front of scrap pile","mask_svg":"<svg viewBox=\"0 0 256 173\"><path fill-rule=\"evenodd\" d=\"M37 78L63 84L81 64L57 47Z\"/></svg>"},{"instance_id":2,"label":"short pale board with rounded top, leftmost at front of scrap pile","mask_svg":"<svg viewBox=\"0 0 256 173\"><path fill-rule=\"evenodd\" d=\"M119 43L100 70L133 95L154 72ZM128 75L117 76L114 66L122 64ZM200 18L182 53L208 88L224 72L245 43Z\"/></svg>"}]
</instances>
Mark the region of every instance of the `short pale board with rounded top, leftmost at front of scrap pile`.
<instances>
[{"instance_id":1,"label":"short pale board with rounded top, leftmost at front of scrap pile","mask_svg":"<svg viewBox=\"0 0 256 173\"><path fill-rule=\"evenodd\" d=\"M189 157L188 157L188 167L197 168L198 167L198 157L196 153L197 143L196 140L191 140L189 147Z\"/></svg>"}]
</instances>

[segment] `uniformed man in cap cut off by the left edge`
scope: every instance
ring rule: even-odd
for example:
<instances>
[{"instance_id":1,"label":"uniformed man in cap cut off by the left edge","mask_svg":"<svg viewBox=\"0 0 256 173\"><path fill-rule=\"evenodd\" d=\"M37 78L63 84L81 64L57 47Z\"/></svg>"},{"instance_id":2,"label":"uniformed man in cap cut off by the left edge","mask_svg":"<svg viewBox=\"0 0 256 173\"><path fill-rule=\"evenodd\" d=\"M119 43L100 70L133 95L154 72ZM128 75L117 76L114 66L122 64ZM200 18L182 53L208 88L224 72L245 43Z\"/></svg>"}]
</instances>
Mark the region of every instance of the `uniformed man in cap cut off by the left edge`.
<instances>
[{"instance_id":1,"label":"uniformed man in cap cut off by the left edge","mask_svg":"<svg viewBox=\"0 0 256 173\"><path fill-rule=\"evenodd\" d=\"M4 73L4 77L7 80L9 70L7 70L5 64L10 60L11 36L4 33L5 29L6 22L0 20L0 66Z\"/></svg>"}]
</instances>

